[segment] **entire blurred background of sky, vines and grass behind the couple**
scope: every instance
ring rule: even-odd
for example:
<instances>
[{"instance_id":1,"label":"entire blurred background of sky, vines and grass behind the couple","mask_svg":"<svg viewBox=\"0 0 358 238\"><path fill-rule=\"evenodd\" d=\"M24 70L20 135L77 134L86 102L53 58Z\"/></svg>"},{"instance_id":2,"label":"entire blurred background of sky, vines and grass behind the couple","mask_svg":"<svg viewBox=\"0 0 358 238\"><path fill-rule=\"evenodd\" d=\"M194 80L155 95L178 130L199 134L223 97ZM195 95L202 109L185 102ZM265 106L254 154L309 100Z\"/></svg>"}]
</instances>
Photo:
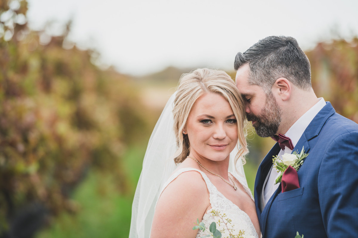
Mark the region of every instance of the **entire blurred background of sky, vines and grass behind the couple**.
<instances>
[{"instance_id":1,"label":"entire blurred background of sky, vines and grass behind the couple","mask_svg":"<svg viewBox=\"0 0 358 238\"><path fill-rule=\"evenodd\" d=\"M0 237L128 237L150 133L181 74L297 39L358 122L358 2L0 0ZM248 136L256 169L274 144Z\"/></svg>"}]
</instances>

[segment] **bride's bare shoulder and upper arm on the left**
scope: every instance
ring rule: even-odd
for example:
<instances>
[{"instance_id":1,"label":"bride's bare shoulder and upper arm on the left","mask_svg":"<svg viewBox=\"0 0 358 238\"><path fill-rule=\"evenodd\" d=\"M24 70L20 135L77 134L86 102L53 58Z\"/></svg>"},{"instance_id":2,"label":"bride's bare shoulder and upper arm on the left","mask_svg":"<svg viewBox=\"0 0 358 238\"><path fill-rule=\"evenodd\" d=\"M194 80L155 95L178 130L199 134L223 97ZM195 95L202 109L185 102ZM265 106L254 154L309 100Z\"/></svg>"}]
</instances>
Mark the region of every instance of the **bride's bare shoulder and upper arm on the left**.
<instances>
[{"instance_id":1,"label":"bride's bare shoulder and upper arm on the left","mask_svg":"<svg viewBox=\"0 0 358 238\"><path fill-rule=\"evenodd\" d=\"M200 172L184 169L174 177L156 204L152 225L153 237L158 237L158 231L171 233L166 237L173 237L173 234L177 233L187 234L192 231L193 222L202 218L210 206L209 193ZM172 224L176 226L170 231L160 230L168 221L170 224L164 227L170 227Z\"/></svg>"}]
</instances>

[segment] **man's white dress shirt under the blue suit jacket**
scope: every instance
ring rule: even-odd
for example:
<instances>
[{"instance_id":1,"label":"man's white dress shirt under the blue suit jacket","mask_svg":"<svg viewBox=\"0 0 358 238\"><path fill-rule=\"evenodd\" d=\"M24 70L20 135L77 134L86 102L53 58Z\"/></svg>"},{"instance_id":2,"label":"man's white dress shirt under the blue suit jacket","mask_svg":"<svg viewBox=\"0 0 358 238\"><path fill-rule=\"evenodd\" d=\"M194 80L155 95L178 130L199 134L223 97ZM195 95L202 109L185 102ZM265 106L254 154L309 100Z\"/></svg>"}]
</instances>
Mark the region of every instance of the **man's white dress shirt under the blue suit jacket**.
<instances>
[{"instance_id":1,"label":"man's white dress shirt under the blue suit jacket","mask_svg":"<svg viewBox=\"0 0 358 238\"><path fill-rule=\"evenodd\" d=\"M300 140L303 132L306 130L308 125L311 123L313 118L317 115L317 113L326 105L323 97L319 98L319 101L311 107L305 114L303 114L286 132L285 136L290 137L292 141L292 145L295 147L297 142ZM301 152L299 149L298 152ZM285 150L280 150L277 156L282 156L284 153L292 153L292 150L285 147ZM272 194L276 191L276 189L280 186L280 183L275 184L276 178L279 177L279 172L276 171L275 168L271 169L269 179L267 179L266 184L264 186L264 198L265 205L271 198Z\"/></svg>"}]
</instances>

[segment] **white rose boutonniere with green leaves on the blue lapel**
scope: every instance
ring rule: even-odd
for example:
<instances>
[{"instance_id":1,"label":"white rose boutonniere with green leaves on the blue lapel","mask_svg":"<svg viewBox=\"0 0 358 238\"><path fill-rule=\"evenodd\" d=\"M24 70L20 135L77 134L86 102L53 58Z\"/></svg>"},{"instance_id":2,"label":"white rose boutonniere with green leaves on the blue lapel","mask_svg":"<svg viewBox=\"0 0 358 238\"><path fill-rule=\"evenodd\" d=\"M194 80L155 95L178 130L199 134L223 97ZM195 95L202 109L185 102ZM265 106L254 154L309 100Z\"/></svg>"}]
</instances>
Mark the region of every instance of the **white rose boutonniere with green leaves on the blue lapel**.
<instances>
[{"instance_id":1,"label":"white rose boutonniere with green leaves on the blue lapel","mask_svg":"<svg viewBox=\"0 0 358 238\"><path fill-rule=\"evenodd\" d=\"M276 183L280 183L282 180L282 174L286 171L286 169L291 166L296 171L300 169L300 166L303 164L303 159L306 158L309 154L305 153L304 148L302 147L301 153L298 153L297 151L292 152L292 154L285 153L282 155L282 159L279 159L279 157L273 156L272 162L274 163L274 168L277 170L277 172L281 172L280 176L276 178Z\"/></svg>"}]
</instances>

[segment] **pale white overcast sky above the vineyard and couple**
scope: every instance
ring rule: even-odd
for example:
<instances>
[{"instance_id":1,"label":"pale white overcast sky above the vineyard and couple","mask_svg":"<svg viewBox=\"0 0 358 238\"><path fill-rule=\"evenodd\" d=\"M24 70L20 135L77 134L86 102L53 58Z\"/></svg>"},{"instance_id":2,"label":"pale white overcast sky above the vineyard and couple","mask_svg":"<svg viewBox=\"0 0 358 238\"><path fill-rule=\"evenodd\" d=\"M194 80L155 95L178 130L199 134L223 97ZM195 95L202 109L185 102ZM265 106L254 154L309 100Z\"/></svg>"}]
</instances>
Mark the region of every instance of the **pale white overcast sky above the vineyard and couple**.
<instances>
[{"instance_id":1,"label":"pale white overcast sky above the vineyard and couple","mask_svg":"<svg viewBox=\"0 0 358 238\"><path fill-rule=\"evenodd\" d=\"M28 0L30 27L73 20L69 39L103 64L142 75L166 66L233 70L238 51L270 35L310 49L332 31L358 34L357 0ZM56 33L59 27L50 29ZM336 35L334 35L336 36Z\"/></svg>"}]
</instances>

